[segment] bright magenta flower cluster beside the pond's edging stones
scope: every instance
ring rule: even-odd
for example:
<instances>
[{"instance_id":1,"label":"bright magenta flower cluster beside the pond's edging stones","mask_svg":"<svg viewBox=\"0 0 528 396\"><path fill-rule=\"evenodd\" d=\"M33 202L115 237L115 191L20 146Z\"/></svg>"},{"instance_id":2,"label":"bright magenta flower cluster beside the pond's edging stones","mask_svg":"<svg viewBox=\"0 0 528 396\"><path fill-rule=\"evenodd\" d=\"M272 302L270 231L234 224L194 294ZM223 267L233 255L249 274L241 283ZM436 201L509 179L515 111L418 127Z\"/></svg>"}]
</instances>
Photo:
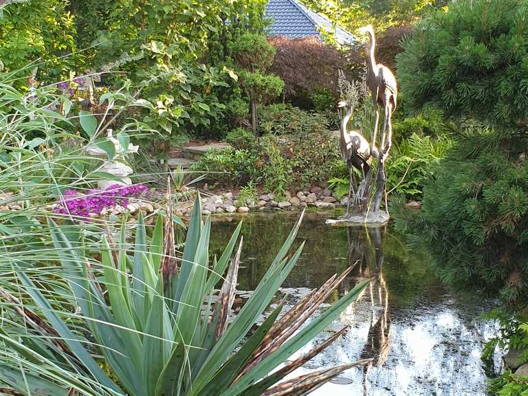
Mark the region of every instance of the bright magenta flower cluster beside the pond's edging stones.
<instances>
[{"instance_id":1,"label":"bright magenta flower cluster beside the pond's edging stones","mask_svg":"<svg viewBox=\"0 0 528 396\"><path fill-rule=\"evenodd\" d=\"M148 187L143 184L133 186L112 184L106 190L88 190L86 195L80 195L76 190L66 190L63 197L59 199L55 211L89 217L90 214L99 214L103 209L112 208L115 205L126 207L129 204L127 198L140 197L147 190Z\"/></svg>"}]
</instances>

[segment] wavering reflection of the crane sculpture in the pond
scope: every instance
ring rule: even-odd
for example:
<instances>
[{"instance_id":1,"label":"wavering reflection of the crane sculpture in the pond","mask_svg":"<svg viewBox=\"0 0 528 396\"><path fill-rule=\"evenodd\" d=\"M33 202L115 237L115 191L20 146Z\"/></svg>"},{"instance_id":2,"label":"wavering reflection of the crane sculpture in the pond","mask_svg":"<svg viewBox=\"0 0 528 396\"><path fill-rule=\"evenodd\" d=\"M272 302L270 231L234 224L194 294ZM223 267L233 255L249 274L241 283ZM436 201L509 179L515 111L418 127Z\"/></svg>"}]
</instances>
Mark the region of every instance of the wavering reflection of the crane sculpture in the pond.
<instances>
[{"instance_id":1,"label":"wavering reflection of the crane sculpture in the pond","mask_svg":"<svg viewBox=\"0 0 528 396\"><path fill-rule=\"evenodd\" d=\"M391 350L391 312L388 305L388 289L383 276L384 252L382 244L383 228L348 227L349 239L348 262L358 263L356 276L372 278L369 295L371 318L369 333L366 337L360 358L373 358L369 366L364 366L364 392L366 379L372 365L383 366Z\"/></svg>"}]
</instances>

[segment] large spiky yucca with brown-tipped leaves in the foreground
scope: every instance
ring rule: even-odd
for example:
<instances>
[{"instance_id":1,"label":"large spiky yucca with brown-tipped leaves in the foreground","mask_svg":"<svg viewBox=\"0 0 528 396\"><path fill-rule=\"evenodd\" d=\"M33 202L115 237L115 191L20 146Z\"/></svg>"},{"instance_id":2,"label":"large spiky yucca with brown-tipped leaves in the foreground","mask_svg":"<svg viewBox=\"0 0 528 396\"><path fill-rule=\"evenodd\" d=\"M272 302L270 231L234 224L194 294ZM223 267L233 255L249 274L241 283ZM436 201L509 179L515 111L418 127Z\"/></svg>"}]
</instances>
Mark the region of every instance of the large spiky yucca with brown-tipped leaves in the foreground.
<instances>
[{"instance_id":1,"label":"large spiky yucca with brown-tipped leaves in the foreground","mask_svg":"<svg viewBox=\"0 0 528 396\"><path fill-rule=\"evenodd\" d=\"M41 276L28 275L14 265L20 293L14 296L0 289L0 382L8 386L2 391L28 396L305 395L351 366L369 362L329 367L281 382L342 335L345 329L286 362L356 300L369 281L359 283L316 318L314 312L351 268L292 309L282 312L279 303L267 312L303 249L301 245L287 256L299 220L233 318L241 227L223 254L210 263L211 223L202 221L200 207L198 198L183 252L174 251L170 217L165 221L159 217L150 237L140 218L130 245L125 226L118 238L102 236L98 254L85 248L71 226L50 220L68 287L50 287ZM216 294L215 286L222 279ZM58 303L70 297L71 308ZM256 327L263 314L267 318Z\"/></svg>"}]
</instances>

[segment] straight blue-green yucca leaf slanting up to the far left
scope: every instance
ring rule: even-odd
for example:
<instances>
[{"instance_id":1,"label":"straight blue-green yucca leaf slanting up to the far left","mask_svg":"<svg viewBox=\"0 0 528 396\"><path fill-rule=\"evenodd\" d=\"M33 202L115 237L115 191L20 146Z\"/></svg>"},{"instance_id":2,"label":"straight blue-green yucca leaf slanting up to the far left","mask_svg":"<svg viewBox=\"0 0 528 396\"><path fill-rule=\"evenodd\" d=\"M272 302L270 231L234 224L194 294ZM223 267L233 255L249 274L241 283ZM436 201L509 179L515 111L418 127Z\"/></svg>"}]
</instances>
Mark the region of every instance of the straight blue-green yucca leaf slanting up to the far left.
<instances>
[{"instance_id":1,"label":"straight blue-green yucca leaf slanting up to the far left","mask_svg":"<svg viewBox=\"0 0 528 396\"><path fill-rule=\"evenodd\" d=\"M57 331L57 333L63 338L63 341L67 344L69 349L75 354L76 358L82 362L87 370L94 376L100 384L112 388L115 391L120 391L119 387L110 380L110 378L101 370L99 364L91 357L89 352L83 347L74 333L69 330L65 322L61 320L55 313L52 308L52 305L44 298L44 296L39 292L39 289L35 287L30 278L25 275L23 272L18 273L19 278L21 279L22 284L25 286L25 291L32 296L36 305L42 308L42 314L47 319L47 321L52 325L52 327Z\"/></svg>"}]
</instances>

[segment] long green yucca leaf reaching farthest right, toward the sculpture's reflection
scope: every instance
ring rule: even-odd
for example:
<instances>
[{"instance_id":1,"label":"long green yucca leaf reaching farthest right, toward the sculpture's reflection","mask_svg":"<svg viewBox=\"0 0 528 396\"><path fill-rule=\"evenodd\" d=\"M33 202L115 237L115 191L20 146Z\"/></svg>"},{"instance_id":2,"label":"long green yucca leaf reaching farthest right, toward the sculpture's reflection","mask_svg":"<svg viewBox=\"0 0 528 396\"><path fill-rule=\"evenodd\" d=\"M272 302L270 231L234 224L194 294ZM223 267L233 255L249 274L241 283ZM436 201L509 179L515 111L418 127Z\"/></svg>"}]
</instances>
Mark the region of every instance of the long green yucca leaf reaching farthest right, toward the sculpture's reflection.
<instances>
[{"instance_id":1,"label":"long green yucca leaf reaching farthest right, toward the sculpture's reflection","mask_svg":"<svg viewBox=\"0 0 528 396\"><path fill-rule=\"evenodd\" d=\"M340 298L337 303L334 303L321 316L315 318L313 322L301 329L295 336L287 340L274 353L268 355L259 364L254 366L251 371L245 373L237 382L235 382L227 391L221 393L221 396L236 396L241 395L245 389L249 388L265 377L268 373L273 371L279 364L285 362L289 356L293 355L298 349L303 347L309 340L317 336L325 327L331 324L344 309L346 309L354 300L356 300L363 292L370 280L363 281L356 285L348 294Z\"/></svg>"}]
</instances>

